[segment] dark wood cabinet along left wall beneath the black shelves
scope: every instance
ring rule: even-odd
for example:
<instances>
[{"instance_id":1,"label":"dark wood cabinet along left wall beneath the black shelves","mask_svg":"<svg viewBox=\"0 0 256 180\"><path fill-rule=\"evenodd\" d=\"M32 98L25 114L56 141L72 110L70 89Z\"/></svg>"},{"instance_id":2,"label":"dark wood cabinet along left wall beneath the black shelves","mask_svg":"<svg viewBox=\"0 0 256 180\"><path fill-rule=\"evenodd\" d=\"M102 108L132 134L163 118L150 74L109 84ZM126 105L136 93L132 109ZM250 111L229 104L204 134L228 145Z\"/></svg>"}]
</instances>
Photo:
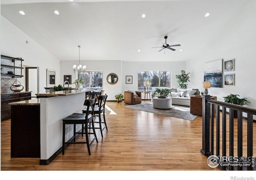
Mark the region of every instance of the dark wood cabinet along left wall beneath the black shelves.
<instances>
[{"instance_id":1,"label":"dark wood cabinet along left wall beneath the black shelves","mask_svg":"<svg viewBox=\"0 0 256 180\"><path fill-rule=\"evenodd\" d=\"M8 105L8 103L23 101L23 100L30 100L30 99L31 99L31 92L2 94L1 95L1 121L8 120L11 118L11 106Z\"/></svg>"}]
</instances>

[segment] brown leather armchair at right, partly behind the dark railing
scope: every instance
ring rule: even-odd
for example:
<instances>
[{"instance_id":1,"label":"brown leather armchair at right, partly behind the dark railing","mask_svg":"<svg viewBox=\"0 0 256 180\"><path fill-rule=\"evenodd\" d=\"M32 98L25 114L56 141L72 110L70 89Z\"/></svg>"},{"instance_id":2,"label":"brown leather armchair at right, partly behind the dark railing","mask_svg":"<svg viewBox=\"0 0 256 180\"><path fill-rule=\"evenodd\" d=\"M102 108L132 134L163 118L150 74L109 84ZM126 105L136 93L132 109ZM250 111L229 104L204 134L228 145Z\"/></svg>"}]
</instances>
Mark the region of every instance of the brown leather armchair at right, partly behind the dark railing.
<instances>
[{"instance_id":1,"label":"brown leather armchair at right, partly behind the dark railing","mask_svg":"<svg viewBox=\"0 0 256 180\"><path fill-rule=\"evenodd\" d=\"M210 99L217 100L217 97L211 96ZM190 96L190 113L202 116L202 96ZM214 114L216 114L216 108L214 108Z\"/></svg>"}]
</instances>

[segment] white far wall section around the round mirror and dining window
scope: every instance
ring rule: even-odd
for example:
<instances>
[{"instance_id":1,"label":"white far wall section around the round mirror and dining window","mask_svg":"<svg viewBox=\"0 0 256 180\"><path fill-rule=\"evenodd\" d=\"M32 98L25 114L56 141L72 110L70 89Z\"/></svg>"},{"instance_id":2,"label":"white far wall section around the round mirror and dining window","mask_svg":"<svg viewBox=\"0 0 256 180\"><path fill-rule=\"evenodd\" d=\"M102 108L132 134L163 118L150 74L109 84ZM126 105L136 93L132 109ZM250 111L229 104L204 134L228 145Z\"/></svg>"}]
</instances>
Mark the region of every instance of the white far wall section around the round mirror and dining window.
<instances>
[{"instance_id":1,"label":"white far wall section around the round mirror and dining window","mask_svg":"<svg viewBox=\"0 0 256 180\"><path fill-rule=\"evenodd\" d=\"M73 71L73 65L78 64L78 60L60 61L60 64L60 84L63 85L64 75L72 75L71 79L72 82L74 82L77 77L76 73L74 73ZM122 62L120 60L80 60L80 64L86 65L87 71L103 71L103 89L105 90L104 93L108 95L107 100L115 100L115 95L122 92ZM115 73L118 76L118 82L114 85L110 85L107 83L107 76L110 73ZM75 87L75 84L72 84L70 87Z\"/></svg>"}]
</instances>

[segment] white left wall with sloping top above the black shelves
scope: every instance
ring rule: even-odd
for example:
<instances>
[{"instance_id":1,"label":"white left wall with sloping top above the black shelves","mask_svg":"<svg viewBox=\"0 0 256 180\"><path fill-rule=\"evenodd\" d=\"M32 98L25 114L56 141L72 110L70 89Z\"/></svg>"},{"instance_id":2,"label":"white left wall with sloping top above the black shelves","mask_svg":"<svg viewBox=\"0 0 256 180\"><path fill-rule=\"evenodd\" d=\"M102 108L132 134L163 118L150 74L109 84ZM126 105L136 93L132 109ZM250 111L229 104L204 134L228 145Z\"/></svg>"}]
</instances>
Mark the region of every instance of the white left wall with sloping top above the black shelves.
<instances>
[{"instance_id":1,"label":"white left wall with sloping top above the black shelves","mask_svg":"<svg viewBox=\"0 0 256 180\"><path fill-rule=\"evenodd\" d=\"M29 43L27 44L26 41ZM39 67L40 93L45 92L46 69L56 70L56 84L60 84L60 60L3 16L1 16L0 46L2 55L22 58L24 59L22 64ZM22 70L22 74L25 74L24 70Z\"/></svg>"}]
</instances>

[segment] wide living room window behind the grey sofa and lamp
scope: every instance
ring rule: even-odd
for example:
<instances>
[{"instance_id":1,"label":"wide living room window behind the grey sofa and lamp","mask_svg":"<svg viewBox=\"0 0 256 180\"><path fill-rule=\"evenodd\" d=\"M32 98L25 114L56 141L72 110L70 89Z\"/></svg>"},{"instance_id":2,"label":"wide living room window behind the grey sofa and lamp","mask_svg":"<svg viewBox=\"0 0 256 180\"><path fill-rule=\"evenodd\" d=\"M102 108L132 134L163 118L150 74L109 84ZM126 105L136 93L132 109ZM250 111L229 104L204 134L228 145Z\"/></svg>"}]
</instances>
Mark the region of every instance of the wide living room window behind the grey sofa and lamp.
<instances>
[{"instance_id":1,"label":"wide living room window behind the grey sofa and lamp","mask_svg":"<svg viewBox=\"0 0 256 180\"><path fill-rule=\"evenodd\" d=\"M171 87L170 71L138 71L138 90L143 91L145 82L150 82L149 91L155 91L159 87Z\"/></svg>"}]
</instances>

